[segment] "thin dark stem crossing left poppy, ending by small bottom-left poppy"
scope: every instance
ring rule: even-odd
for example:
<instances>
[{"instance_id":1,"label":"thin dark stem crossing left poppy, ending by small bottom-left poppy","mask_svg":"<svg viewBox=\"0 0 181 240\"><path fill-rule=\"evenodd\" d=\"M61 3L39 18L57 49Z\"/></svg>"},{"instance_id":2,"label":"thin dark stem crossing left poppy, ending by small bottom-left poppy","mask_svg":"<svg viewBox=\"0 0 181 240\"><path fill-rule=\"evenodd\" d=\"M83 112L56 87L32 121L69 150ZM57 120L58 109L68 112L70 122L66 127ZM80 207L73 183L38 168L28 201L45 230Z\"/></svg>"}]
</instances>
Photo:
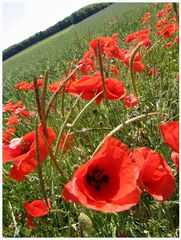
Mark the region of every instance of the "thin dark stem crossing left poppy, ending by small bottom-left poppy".
<instances>
[{"instance_id":1,"label":"thin dark stem crossing left poppy, ending by small bottom-left poppy","mask_svg":"<svg viewBox=\"0 0 181 240\"><path fill-rule=\"evenodd\" d=\"M37 167L38 167L38 177L39 177L42 196L43 196L43 198L46 202L46 205L48 206L47 196L46 196L46 191L45 191L45 184L44 184L43 174L42 174L42 167L41 167L41 162L40 162L40 151L39 151L39 141L38 141L38 120L37 120L37 118L36 118L35 132L36 132L36 161L37 161Z\"/></svg>"}]
</instances>

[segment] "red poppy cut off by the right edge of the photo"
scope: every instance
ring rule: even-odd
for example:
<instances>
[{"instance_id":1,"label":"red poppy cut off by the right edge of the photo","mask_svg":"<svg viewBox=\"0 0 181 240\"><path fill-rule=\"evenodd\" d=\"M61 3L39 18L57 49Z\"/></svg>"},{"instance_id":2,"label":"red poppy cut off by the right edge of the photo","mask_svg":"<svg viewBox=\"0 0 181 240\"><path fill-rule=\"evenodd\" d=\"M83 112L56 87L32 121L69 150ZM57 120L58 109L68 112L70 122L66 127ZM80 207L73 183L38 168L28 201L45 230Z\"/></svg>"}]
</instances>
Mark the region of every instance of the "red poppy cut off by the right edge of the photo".
<instances>
[{"instance_id":1,"label":"red poppy cut off by the right edge of the photo","mask_svg":"<svg viewBox=\"0 0 181 240\"><path fill-rule=\"evenodd\" d=\"M173 149L171 158L179 168L179 121L160 124L162 136L168 146Z\"/></svg>"}]
</instances>

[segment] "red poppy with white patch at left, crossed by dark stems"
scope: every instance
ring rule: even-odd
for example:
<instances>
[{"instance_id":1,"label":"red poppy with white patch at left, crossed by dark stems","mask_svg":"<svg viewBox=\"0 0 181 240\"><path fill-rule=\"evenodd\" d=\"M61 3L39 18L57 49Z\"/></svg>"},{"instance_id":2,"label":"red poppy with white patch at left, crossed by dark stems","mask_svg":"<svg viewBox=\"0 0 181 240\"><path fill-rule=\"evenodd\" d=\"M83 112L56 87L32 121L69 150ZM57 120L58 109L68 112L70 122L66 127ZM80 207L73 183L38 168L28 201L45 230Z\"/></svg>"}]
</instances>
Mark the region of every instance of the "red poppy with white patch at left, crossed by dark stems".
<instances>
[{"instance_id":1,"label":"red poppy with white patch at left, crossed by dark stems","mask_svg":"<svg viewBox=\"0 0 181 240\"><path fill-rule=\"evenodd\" d=\"M54 131L48 128L50 146L54 139ZM40 161L44 162L48 156L48 149L44 143L42 126L38 128L38 141ZM19 181L25 180L25 176L37 168L35 131L26 134L22 138L12 139L9 145L3 146L3 162L15 162L10 177Z\"/></svg>"}]
</instances>

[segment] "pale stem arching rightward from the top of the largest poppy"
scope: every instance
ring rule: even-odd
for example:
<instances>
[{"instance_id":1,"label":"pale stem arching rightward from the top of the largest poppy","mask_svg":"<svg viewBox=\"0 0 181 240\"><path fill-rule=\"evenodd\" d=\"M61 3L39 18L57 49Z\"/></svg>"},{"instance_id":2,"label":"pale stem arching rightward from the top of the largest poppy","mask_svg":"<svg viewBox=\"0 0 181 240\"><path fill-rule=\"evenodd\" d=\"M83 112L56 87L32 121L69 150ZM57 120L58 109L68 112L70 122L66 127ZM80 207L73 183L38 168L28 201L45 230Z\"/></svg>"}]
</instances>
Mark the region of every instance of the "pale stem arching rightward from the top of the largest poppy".
<instances>
[{"instance_id":1,"label":"pale stem arching rightward from the top of the largest poppy","mask_svg":"<svg viewBox=\"0 0 181 240\"><path fill-rule=\"evenodd\" d=\"M100 149L100 147L105 142L107 137L110 137L110 136L114 135L116 132L118 132L120 129L122 129L125 125L136 122L136 121L138 121L142 118L148 117L148 116L154 116L154 115L159 115L159 114L160 114L159 112L145 113L145 114L139 115L137 117L131 118L124 123L121 123L116 128L114 128L109 134L106 135L106 137L102 140L102 142L99 144L99 146L96 148L96 150L92 154L92 157L97 153L97 151Z\"/></svg>"}]
</instances>

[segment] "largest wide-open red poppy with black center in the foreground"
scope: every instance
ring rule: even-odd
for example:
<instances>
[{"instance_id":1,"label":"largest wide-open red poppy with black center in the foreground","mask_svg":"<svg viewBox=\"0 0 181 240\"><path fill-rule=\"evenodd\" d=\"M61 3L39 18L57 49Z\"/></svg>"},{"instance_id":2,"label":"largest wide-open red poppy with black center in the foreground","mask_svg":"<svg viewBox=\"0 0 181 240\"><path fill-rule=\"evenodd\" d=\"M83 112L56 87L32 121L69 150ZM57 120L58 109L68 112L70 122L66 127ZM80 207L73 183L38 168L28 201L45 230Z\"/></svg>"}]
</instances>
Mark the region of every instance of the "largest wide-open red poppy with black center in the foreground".
<instances>
[{"instance_id":1,"label":"largest wide-open red poppy with black center in the foreground","mask_svg":"<svg viewBox=\"0 0 181 240\"><path fill-rule=\"evenodd\" d=\"M76 170L63 191L63 198L102 212L130 209L139 201L138 168L128 147L108 137L102 148Z\"/></svg>"}]
</instances>

